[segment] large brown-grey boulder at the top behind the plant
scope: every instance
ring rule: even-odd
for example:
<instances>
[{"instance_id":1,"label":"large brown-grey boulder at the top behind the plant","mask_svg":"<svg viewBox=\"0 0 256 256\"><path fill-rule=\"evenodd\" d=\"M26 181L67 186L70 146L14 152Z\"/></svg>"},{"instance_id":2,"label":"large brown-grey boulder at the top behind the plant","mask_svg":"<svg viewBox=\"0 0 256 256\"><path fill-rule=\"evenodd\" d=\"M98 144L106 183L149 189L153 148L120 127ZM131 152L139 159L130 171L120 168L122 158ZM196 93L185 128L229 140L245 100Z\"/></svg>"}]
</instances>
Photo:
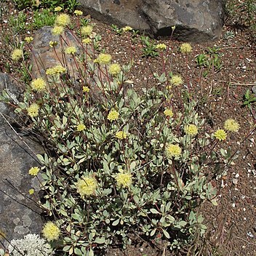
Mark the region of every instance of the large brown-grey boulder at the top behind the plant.
<instances>
[{"instance_id":1,"label":"large brown-grey boulder at the top behind the plant","mask_svg":"<svg viewBox=\"0 0 256 256\"><path fill-rule=\"evenodd\" d=\"M130 25L153 36L180 41L213 41L220 37L224 0L79 0L81 9L104 23Z\"/></svg>"}]
</instances>

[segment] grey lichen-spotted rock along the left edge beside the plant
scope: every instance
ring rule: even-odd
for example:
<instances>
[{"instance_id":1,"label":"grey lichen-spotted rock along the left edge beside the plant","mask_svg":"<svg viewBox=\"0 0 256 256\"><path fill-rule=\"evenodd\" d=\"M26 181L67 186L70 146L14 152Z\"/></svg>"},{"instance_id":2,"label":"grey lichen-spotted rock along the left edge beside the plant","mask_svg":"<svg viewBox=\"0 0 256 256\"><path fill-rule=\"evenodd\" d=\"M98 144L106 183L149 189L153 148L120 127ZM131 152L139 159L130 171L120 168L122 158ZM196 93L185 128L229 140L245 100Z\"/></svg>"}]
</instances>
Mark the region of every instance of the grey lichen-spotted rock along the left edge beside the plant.
<instances>
[{"instance_id":1,"label":"grey lichen-spotted rock along the left edge beside the plant","mask_svg":"<svg viewBox=\"0 0 256 256\"><path fill-rule=\"evenodd\" d=\"M20 89L7 74L0 74L0 93L2 89L14 102L19 99ZM39 191L39 181L28 175L28 169L39 166L35 153L42 153L43 149L9 125L13 120L9 116L17 118L9 105L0 103L0 113L0 241L7 246L7 240L41 231L41 212L32 201L37 200L36 193L28 193L31 188Z\"/></svg>"}]
</instances>

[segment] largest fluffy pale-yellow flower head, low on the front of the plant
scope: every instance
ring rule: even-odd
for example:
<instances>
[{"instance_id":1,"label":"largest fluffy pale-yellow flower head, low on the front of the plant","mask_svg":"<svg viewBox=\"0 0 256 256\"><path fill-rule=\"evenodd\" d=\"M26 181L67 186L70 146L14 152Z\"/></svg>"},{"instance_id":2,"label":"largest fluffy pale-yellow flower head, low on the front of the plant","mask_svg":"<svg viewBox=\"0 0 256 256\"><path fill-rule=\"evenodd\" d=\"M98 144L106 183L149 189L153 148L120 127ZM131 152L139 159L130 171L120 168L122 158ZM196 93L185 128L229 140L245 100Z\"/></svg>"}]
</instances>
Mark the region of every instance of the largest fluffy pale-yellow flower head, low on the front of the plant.
<instances>
[{"instance_id":1,"label":"largest fluffy pale-yellow flower head, low on the front of the plant","mask_svg":"<svg viewBox=\"0 0 256 256\"><path fill-rule=\"evenodd\" d=\"M76 183L76 188L82 198L84 196L91 196L95 193L97 181L92 176L81 177L81 179Z\"/></svg>"}]
</instances>

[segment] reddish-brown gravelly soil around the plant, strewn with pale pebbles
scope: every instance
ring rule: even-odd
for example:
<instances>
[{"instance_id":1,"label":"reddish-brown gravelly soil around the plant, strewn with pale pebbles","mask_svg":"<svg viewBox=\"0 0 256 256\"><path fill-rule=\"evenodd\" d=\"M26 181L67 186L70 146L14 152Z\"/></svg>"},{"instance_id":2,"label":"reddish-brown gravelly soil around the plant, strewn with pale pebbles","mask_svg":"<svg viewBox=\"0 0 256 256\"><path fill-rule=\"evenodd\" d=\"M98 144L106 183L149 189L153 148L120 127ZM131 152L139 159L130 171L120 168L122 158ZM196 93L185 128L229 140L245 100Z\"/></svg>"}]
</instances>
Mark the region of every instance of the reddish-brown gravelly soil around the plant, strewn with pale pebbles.
<instances>
[{"instance_id":1,"label":"reddish-brown gravelly soil around the plant, strewn with pale pebbles","mask_svg":"<svg viewBox=\"0 0 256 256\"><path fill-rule=\"evenodd\" d=\"M12 4L8 8L10 13L15 12ZM28 11L28 19L31 15ZM140 36L135 36L135 39L132 39L131 33L120 36L108 25L96 20L91 20L91 23L95 23L95 32L102 36L100 47L110 53L114 60L119 63L129 63L131 57L135 60L129 79L134 81L138 90L156 84L153 72L162 73L163 56L142 57L143 43ZM8 23L2 23L2 35L7 33L7 29ZM33 36L33 31L29 35ZM27 32L26 35L15 35L15 40L25 36L28 36ZM200 246L204 247L202 255L205 256L256 255L256 132L252 131L256 124L256 103L252 103L252 111L247 106L242 107L244 93L247 89L251 92L256 85L254 40L247 28L236 29L231 23L226 23L220 40L191 44L193 51L188 55L188 70L185 68L185 56L179 53L180 42L169 38L156 41L169 47L166 68L188 79L192 91L202 101L209 124L216 129L223 125L225 119L233 118L241 126L239 133L233 135L229 143L233 151L239 151L239 158L226 175L214 180L218 188L218 205L214 207L206 203L201 207L208 226L207 239L199 241ZM204 53L207 47L218 47L222 68L219 71L212 69L204 78L201 68L196 65L196 57ZM6 53L11 49L5 45L3 36L0 36L0 48L0 72L6 72L6 63L9 63ZM12 76L19 76L12 67L9 70ZM141 241L124 251L111 249L107 255L172 255L172 252L164 251L161 246L159 248Z\"/></svg>"}]
</instances>

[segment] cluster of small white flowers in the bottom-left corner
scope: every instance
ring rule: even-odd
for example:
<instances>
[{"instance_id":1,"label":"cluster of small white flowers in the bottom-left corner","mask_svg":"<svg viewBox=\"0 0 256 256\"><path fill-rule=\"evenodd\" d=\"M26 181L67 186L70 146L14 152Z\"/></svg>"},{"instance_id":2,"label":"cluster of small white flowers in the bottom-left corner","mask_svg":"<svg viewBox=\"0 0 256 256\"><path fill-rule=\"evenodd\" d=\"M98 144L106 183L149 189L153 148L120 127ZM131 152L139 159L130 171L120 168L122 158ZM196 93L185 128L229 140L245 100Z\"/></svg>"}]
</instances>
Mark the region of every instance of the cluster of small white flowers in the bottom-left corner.
<instances>
[{"instance_id":1,"label":"cluster of small white flowers in the bottom-left corner","mask_svg":"<svg viewBox=\"0 0 256 256\"><path fill-rule=\"evenodd\" d=\"M29 233L23 239L12 240L8 247L12 256L50 256L54 255L50 245L39 235Z\"/></svg>"}]
</instances>

